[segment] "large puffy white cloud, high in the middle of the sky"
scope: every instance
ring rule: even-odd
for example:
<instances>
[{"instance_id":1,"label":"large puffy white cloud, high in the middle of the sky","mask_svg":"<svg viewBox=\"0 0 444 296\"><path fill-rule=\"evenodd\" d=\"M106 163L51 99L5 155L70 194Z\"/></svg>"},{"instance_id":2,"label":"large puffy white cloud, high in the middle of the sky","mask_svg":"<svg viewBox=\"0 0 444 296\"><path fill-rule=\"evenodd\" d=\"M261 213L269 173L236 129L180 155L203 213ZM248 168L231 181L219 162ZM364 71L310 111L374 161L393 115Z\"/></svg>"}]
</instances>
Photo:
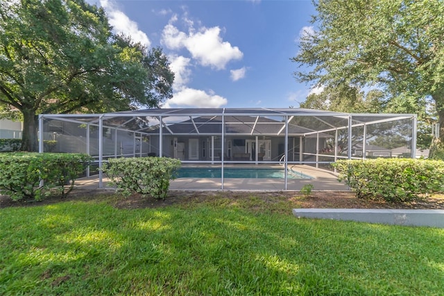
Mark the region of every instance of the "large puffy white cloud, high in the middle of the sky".
<instances>
[{"instance_id":1,"label":"large puffy white cloud, high in the middle of the sky","mask_svg":"<svg viewBox=\"0 0 444 296\"><path fill-rule=\"evenodd\" d=\"M197 33L194 32L193 22L184 19L189 32L180 31L173 25L177 16L171 18L169 24L164 27L162 32L162 44L171 50L185 48L191 56L198 60L203 66L209 66L215 69L225 69L225 65L230 60L240 60L244 54L239 47L232 47L230 42L223 41L220 33L221 28L215 26L212 28L201 27Z\"/></svg>"}]
</instances>

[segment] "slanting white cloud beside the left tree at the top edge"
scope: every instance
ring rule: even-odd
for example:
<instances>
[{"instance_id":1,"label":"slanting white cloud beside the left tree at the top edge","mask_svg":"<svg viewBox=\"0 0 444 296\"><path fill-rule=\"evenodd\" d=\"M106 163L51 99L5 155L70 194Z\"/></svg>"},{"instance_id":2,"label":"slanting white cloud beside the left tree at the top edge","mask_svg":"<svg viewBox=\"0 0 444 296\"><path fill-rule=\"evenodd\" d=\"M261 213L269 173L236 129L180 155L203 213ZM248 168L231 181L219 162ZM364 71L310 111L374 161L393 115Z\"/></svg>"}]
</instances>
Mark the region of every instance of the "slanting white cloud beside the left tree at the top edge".
<instances>
[{"instance_id":1,"label":"slanting white cloud beside the left tree at the top edge","mask_svg":"<svg viewBox=\"0 0 444 296\"><path fill-rule=\"evenodd\" d=\"M151 46L148 36L139 30L137 23L131 20L125 13L119 10L113 1L100 0L101 6L105 8L110 25L117 33L129 35L135 42L140 42L146 47Z\"/></svg>"}]
</instances>

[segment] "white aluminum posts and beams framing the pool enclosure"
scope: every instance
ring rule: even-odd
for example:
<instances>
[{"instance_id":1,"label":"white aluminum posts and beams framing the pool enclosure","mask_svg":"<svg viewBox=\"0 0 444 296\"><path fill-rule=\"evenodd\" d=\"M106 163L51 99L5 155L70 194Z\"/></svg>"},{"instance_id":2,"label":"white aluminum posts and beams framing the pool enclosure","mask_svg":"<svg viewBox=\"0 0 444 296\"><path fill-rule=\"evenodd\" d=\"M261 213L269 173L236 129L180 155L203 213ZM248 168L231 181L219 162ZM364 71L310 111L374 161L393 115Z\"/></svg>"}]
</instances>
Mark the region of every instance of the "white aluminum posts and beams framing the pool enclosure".
<instances>
[{"instance_id":1,"label":"white aluminum posts and beams framing the pool enclosure","mask_svg":"<svg viewBox=\"0 0 444 296\"><path fill-rule=\"evenodd\" d=\"M302 108L174 108L174 109L146 109L146 110L135 110L135 111L124 111L124 112L117 112L117 113L101 113L101 114L58 114L58 115L51 115L51 114L41 114L39 115L39 151L44 152L44 120L58 120L62 122L74 122L78 124L85 124L87 125L87 128L89 129L89 126L96 126L99 129L99 157L97 160L97 163L99 165L99 188L103 187L103 175L102 171L100 170L103 164L105 155L103 154L103 128L108 129L115 129L117 133L117 129L121 131L126 131L128 133L133 133L134 137L136 137L136 133L139 135L152 135L147 129L139 128L139 129L130 129L128 126L125 126L128 122L134 122L135 120L140 119L147 119L150 118L156 118L158 120L158 136L159 136L159 156L162 157L163 155L163 133L164 130L169 132L169 135L174 135L173 131L169 129L169 126L166 123L166 119L169 117L189 117L191 120L191 123L196 128L197 133L199 133L196 122L194 122L195 117L203 117L203 116L209 116L209 117L221 117L221 133L214 134L215 136L221 137L221 151L224 151L225 147L225 137L227 136L227 132L225 131L225 125L227 122L225 121L227 118L230 117L239 117L239 116L246 116L246 117L256 117L255 124L253 125L253 129L250 133L250 135L254 135L253 131L255 129L255 126L257 124L257 121L259 117L280 117L282 118L282 124L281 128L279 129L278 133L276 133L276 136L284 136L284 157L280 159L279 161L256 161L253 162L255 164L259 163L270 163L270 164L280 164L282 165L284 170L284 190L287 190L287 170L289 165L296 165L300 163L312 163L315 164L316 167L318 165L323 163L332 163L333 161L325 162L325 161L319 161L319 158L323 156L323 154L320 153L318 142L319 137L323 133L329 133L334 132L334 161L336 161L339 158L347 158L347 159L353 159L356 157L352 156L352 129L353 128L359 128L363 127L364 129L364 141L362 144L362 151L363 156L359 159L365 159L366 158L366 127L370 124L377 124L377 123L383 123L383 122L392 122L397 120L411 120L411 158L415 158L416 156L416 132L417 132L417 117L414 114L371 114L371 113L336 113L336 112L330 112L330 111L322 111L322 110L310 110L310 109L302 109ZM108 121L112 121L113 119L117 117L123 117L127 118L125 121L125 124L121 125L110 125L108 124ZM306 136L314 136L316 135L316 154L313 156L316 157L316 161L309 162L309 161L289 161L289 126L291 125L291 121L294 118L313 118L316 120L316 122L323 123L324 126L329 126L329 128L320 128L318 130L311 129L311 131L305 131L303 133L298 134L291 134L293 137L299 136L301 139L302 137ZM346 124L341 124L340 126L336 126L332 122L327 122L327 118L334 118L336 120L339 120L339 122L346 122ZM302 126L303 127L303 126ZM307 129L307 128L305 128ZM348 145L347 145L347 156L339 156L338 150L337 150L337 138L338 138L338 132L345 129L348 131ZM87 134L88 135L88 134ZM240 134L239 134L240 135ZM256 143L258 136L255 136ZM89 137L87 136L87 142L89 142ZM135 142L134 142L135 143ZM214 149L214 145L212 145L212 149ZM117 150L117 142L116 147L114 147L114 150ZM89 154L89 146L87 146L86 153ZM301 155L301 154L300 154ZM134 156L136 156L134 154ZM142 149L141 149L141 156L142 156ZM182 161L183 163L217 163L221 165L221 190L224 189L224 177L223 177L223 170L225 167L225 164L234 164L237 163L237 161L230 161L225 160L225 156L222 153L220 156L220 161L216 161L214 159L214 151L212 151L213 158L211 161ZM112 157L112 156L111 156ZM115 155L114 157L117 157ZM332 157L329 155L329 157Z\"/></svg>"}]
</instances>

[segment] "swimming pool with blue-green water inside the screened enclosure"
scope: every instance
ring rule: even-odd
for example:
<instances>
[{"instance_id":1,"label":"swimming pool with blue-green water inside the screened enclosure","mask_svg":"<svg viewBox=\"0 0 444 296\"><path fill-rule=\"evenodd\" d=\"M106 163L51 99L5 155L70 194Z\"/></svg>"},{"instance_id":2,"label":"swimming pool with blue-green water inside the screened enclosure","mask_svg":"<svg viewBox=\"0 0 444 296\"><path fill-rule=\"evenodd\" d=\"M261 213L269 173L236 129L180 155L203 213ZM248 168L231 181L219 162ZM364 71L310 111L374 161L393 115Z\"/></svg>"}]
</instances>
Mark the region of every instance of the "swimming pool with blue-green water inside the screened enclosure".
<instances>
[{"instance_id":1,"label":"swimming pool with blue-green water inside the screened enclosure","mask_svg":"<svg viewBox=\"0 0 444 296\"><path fill-rule=\"evenodd\" d=\"M232 168L223 169L224 178L284 179L284 169ZM180 167L177 178L221 178L220 167ZM288 179L313 179L312 176L289 170Z\"/></svg>"}]
</instances>

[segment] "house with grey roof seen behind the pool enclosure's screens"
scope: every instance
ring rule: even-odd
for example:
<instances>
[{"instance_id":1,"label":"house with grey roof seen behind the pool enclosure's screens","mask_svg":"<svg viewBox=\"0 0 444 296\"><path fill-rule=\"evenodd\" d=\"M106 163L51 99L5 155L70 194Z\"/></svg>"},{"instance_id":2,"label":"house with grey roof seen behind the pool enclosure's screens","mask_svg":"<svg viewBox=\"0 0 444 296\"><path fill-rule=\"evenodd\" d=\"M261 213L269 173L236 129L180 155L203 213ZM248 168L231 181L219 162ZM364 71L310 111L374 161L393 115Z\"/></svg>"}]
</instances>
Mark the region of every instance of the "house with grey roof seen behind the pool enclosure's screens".
<instances>
[{"instance_id":1,"label":"house with grey roof seen behind the pool enclosure's screens","mask_svg":"<svg viewBox=\"0 0 444 296\"><path fill-rule=\"evenodd\" d=\"M181 161L220 161L222 157L225 161L279 161L284 155L284 120L228 115L223 121L224 124L218 116L203 115L164 125L162 155ZM291 161L299 159L300 135L309 132L311 129L289 124ZM159 128L151 129L148 134L151 142L159 140ZM160 154L155 147L151 151Z\"/></svg>"}]
</instances>

